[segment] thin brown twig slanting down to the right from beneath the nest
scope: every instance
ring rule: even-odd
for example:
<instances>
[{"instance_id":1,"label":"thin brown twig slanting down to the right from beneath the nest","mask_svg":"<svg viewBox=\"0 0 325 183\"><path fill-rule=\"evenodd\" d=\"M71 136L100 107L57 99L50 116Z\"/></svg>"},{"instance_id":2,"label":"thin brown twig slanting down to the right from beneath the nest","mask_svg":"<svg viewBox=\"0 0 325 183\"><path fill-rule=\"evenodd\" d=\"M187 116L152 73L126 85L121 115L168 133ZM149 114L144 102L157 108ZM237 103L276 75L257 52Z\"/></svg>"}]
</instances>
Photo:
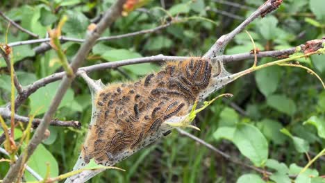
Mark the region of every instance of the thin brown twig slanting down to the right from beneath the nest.
<instances>
[{"instance_id":1,"label":"thin brown twig slanting down to the right from beneath the nest","mask_svg":"<svg viewBox=\"0 0 325 183\"><path fill-rule=\"evenodd\" d=\"M213 150L215 153L217 153L219 155L222 155L222 157L224 157L225 159L227 159L229 162L233 162L234 164L239 164L241 166L244 166L244 167L247 167L247 168L251 168L252 170L257 171L258 173L262 173L263 175L264 174L272 175L271 172L264 171L264 170L262 170L260 168L255 167L255 166L251 166L251 165L248 165L248 164L244 164L244 162L240 162L240 160L235 159L234 157L231 157L231 155L228 155L228 154L222 152L221 150L215 148L215 146L211 145L210 143L207 143L206 141L203 141L199 137L195 137L194 135L192 135L192 134L190 134L188 132L185 132L184 130L181 130L181 129L177 128L177 131L180 134L182 134L182 135L184 135L186 137L190 137L190 139L193 139L194 141L197 141L197 142L201 143L203 146L206 146L210 150Z\"/></svg>"}]
</instances>

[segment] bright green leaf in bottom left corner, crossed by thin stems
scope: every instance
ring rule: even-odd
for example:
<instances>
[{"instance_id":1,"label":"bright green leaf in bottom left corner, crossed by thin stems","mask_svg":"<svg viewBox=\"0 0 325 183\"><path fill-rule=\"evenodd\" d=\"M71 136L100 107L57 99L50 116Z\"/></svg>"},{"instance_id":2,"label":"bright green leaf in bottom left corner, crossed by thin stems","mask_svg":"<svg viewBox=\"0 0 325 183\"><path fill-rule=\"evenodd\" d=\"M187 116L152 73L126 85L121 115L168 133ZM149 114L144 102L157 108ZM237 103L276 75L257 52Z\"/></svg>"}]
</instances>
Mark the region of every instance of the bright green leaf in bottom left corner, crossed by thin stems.
<instances>
[{"instance_id":1,"label":"bright green leaf in bottom left corner, crossed by thin stems","mask_svg":"<svg viewBox=\"0 0 325 183\"><path fill-rule=\"evenodd\" d=\"M42 144L38 145L31 158L28 160L27 165L30 166L41 177L45 177L47 174L47 163L50 167L50 177L58 176L58 162L53 155ZM26 181L35 181L35 177L25 171Z\"/></svg>"}]
</instances>

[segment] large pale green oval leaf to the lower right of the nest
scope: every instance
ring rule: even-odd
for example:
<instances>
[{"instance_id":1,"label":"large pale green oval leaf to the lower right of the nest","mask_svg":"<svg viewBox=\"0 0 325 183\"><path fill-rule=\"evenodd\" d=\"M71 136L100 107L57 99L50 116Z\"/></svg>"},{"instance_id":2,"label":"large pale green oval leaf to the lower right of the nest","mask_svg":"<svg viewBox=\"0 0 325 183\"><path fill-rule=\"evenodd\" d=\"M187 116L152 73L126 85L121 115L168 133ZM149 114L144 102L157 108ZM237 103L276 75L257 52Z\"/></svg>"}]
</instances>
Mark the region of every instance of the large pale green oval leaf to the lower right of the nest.
<instances>
[{"instance_id":1,"label":"large pale green oval leaf to the lower right of the nest","mask_svg":"<svg viewBox=\"0 0 325 183\"><path fill-rule=\"evenodd\" d=\"M267 139L255 126L246 123L237 125L233 143L255 166L263 166L267 161L269 153Z\"/></svg>"}]
</instances>

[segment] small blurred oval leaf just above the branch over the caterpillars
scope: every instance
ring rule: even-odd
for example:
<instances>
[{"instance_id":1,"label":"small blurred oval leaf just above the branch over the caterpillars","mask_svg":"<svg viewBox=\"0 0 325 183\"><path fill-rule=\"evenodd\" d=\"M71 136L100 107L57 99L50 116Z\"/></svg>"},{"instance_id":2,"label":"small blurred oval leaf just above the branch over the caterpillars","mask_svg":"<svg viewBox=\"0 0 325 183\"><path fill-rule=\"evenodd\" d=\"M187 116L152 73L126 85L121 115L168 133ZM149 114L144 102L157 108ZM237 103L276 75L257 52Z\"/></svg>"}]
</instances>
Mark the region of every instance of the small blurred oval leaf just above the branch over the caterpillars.
<instances>
[{"instance_id":1,"label":"small blurred oval leaf just above the branch over the caterpillars","mask_svg":"<svg viewBox=\"0 0 325 183\"><path fill-rule=\"evenodd\" d=\"M144 49L148 51L159 51L161 49L168 49L173 44L172 40L163 35L151 38L146 44Z\"/></svg>"}]
</instances>

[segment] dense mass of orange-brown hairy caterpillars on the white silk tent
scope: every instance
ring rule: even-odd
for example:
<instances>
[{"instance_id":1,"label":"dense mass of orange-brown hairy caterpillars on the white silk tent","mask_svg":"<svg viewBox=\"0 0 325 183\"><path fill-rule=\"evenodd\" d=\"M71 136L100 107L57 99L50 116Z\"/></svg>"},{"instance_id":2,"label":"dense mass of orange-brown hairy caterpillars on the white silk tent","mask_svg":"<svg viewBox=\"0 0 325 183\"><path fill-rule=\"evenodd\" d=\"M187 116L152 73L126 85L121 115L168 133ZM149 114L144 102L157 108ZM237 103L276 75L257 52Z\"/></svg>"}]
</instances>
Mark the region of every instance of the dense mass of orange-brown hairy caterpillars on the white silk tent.
<instances>
[{"instance_id":1,"label":"dense mass of orange-brown hairy caterpillars on the white silk tent","mask_svg":"<svg viewBox=\"0 0 325 183\"><path fill-rule=\"evenodd\" d=\"M107 166L117 155L151 143L164 121L188 114L208 87L211 70L210 60L191 58L168 62L163 70L136 82L105 87L97 94L97 121L83 145L85 163L94 158Z\"/></svg>"}]
</instances>

